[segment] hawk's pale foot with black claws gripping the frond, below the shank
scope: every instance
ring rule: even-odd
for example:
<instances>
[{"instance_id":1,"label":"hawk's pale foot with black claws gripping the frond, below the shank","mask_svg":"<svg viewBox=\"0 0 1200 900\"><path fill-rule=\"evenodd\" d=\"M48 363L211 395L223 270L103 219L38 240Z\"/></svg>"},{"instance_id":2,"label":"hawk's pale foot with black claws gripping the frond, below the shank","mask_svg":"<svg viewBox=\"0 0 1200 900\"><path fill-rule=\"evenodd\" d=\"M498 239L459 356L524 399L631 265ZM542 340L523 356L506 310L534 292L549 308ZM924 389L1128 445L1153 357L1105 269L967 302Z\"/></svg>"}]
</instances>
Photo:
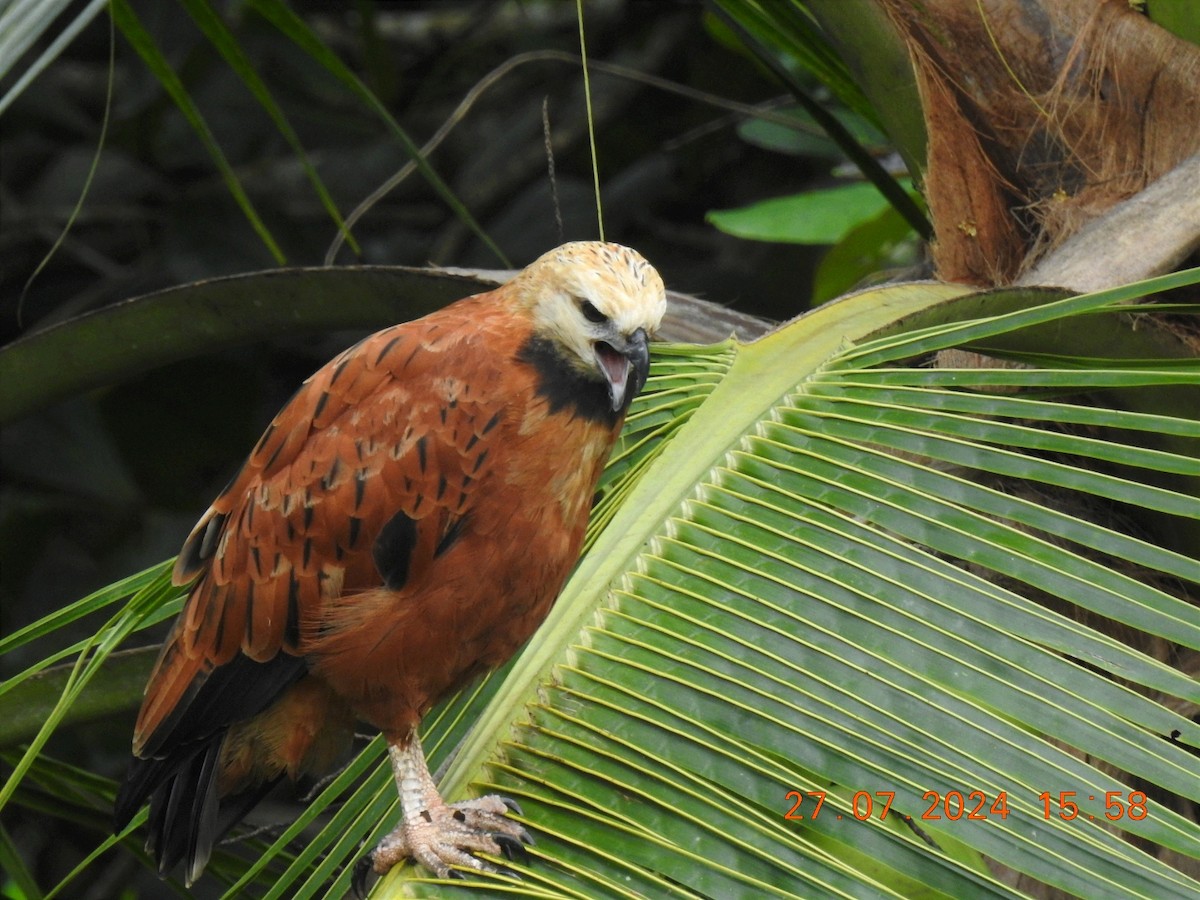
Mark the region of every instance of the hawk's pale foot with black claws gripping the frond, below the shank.
<instances>
[{"instance_id":1,"label":"hawk's pale foot with black claws gripping the frond, below the shank","mask_svg":"<svg viewBox=\"0 0 1200 900\"><path fill-rule=\"evenodd\" d=\"M458 875L451 866L500 871L474 856L476 852L528 859L526 845L533 844L533 836L505 815L509 811L520 815L521 809L512 800L496 794L460 803L444 803L433 794L428 800L424 809L406 811L404 821L359 864L355 882L365 887L367 866L384 875L404 859L415 859L439 878Z\"/></svg>"}]
</instances>

